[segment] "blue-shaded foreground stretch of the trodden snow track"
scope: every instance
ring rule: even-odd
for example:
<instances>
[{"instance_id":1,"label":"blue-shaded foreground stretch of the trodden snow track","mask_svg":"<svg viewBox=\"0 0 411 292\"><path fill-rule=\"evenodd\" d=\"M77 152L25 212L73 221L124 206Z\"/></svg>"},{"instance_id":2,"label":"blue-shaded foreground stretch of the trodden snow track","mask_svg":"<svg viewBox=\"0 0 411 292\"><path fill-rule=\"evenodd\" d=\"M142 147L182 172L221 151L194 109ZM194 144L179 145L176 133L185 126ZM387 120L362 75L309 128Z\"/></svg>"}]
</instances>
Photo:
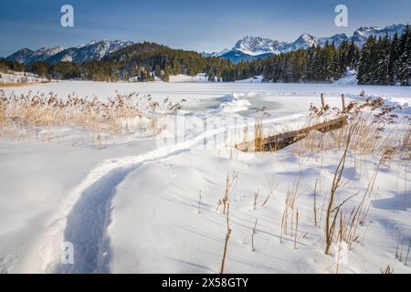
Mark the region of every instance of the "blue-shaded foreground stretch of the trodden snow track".
<instances>
[{"instance_id":1,"label":"blue-shaded foreground stretch of the trodden snow track","mask_svg":"<svg viewBox=\"0 0 411 292\"><path fill-rule=\"evenodd\" d=\"M64 230L64 241L74 246L75 264L59 265L57 273L109 272L111 250L106 230L111 223L111 197L116 186L136 167L109 172L81 194L68 214Z\"/></svg>"}]
</instances>

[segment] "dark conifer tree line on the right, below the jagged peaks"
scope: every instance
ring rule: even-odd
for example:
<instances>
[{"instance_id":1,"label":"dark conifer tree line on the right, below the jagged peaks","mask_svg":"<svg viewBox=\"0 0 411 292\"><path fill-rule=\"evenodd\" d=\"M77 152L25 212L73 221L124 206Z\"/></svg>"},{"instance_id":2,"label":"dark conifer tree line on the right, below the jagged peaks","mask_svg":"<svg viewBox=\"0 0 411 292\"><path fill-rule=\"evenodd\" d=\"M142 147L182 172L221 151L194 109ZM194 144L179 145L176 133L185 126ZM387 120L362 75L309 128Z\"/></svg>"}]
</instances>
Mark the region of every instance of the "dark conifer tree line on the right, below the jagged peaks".
<instances>
[{"instance_id":1,"label":"dark conifer tree line on the right, below the jagged peaks","mask_svg":"<svg viewBox=\"0 0 411 292\"><path fill-rule=\"evenodd\" d=\"M343 41L339 47L325 44L253 62L265 80L273 82L332 82L347 69L357 73L362 85L411 85L411 29L376 38L363 47Z\"/></svg>"}]
</instances>

